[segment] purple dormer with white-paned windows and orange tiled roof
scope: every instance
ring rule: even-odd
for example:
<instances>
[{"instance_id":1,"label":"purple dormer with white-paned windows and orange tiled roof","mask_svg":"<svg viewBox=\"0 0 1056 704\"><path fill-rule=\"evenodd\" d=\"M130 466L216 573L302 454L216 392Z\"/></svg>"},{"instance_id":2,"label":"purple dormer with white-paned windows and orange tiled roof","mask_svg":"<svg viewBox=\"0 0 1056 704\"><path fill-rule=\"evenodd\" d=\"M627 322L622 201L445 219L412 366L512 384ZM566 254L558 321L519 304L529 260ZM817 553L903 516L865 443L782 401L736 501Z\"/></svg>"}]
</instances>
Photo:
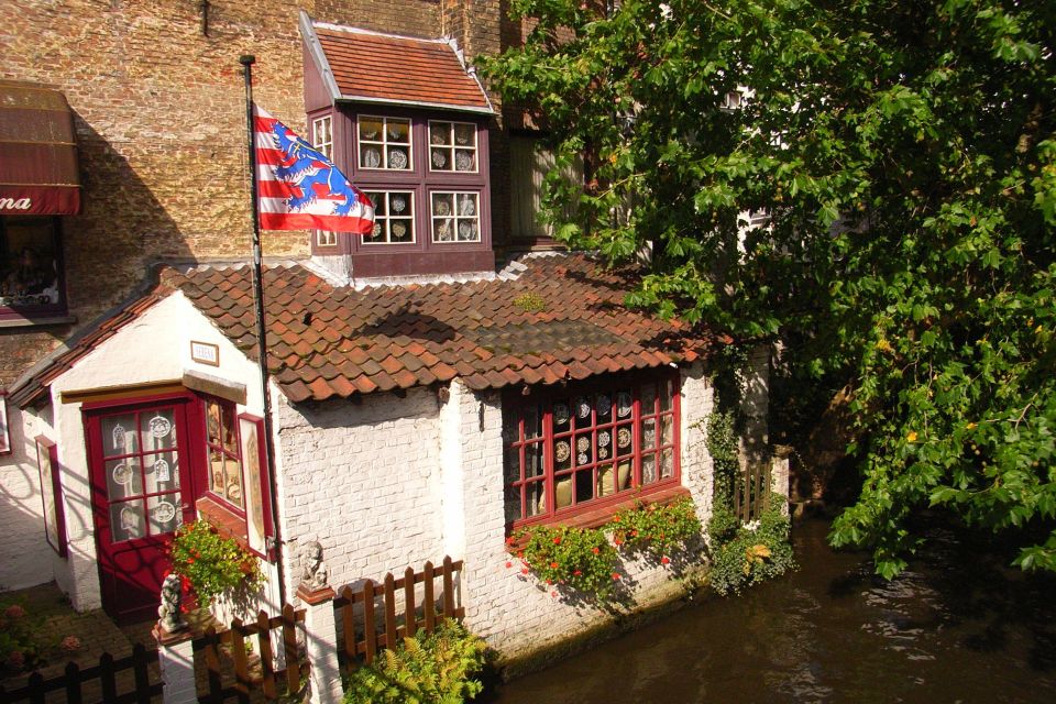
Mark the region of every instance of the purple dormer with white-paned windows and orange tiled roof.
<instances>
[{"instance_id":1,"label":"purple dormer with white-paned windows and orange tiled roof","mask_svg":"<svg viewBox=\"0 0 1056 704\"><path fill-rule=\"evenodd\" d=\"M318 262L360 280L493 272L495 111L458 45L315 23L305 13L300 29L308 122L375 206L373 232L337 233L332 244L317 235Z\"/></svg>"}]
</instances>

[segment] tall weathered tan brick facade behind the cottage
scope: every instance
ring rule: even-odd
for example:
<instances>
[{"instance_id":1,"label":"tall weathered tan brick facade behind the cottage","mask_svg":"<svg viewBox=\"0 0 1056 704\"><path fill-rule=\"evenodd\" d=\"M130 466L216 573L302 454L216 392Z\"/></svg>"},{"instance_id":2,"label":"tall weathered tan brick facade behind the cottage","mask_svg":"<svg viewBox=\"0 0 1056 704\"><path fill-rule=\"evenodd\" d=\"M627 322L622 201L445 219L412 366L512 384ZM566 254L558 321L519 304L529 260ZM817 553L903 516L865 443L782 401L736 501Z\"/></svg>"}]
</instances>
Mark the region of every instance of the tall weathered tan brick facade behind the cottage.
<instances>
[{"instance_id":1,"label":"tall weathered tan brick facade behind the cottage","mask_svg":"<svg viewBox=\"0 0 1056 704\"><path fill-rule=\"evenodd\" d=\"M199 3L188 0L16 2L18 21L0 29L0 78L66 95L75 114L84 209L63 219L62 235L69 312L78 322L0 330L0 387L142 286L153 263L250 255L240 55L256 56L256 101L304 133L300 9L320 21L454 36L472 58L499 51L499 6L212 0L204 35ZM502 204L508 178L501 166L504 148L496 152L499 168L492 174ZM505 207L496 207L493 219L501 240ZM309 252L306 232L262 237L265 256Z\"/></svg>"}]
</instances>

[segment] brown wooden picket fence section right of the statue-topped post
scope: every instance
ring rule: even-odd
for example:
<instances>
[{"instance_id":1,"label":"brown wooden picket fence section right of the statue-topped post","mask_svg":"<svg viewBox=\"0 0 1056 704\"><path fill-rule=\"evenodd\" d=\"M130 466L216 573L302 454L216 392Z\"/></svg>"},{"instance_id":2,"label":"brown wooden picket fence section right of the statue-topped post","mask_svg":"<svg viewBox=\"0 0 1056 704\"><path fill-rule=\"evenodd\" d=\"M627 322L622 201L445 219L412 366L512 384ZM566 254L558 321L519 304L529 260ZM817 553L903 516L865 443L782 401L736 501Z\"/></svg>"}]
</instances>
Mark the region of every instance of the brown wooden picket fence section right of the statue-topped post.
<instances>
[{"instance_id":1,"label":"brown wooden picket fence section right of the statue-topped post","mask_svg":"<svg viewBox=\"0 0 1056 704\"><path fill-rule=\"evenodd\" d=\"M426 562L421 572L407 568L404 576L398 579L389 572L381 584L366 580L356 590L351 586L342 588L333 600L333 608L342 629L339 659L343 668L349 670L361 659L370 664L380 650L394 648L402 638L414 636L419 629L432 632L444 618L461 622L465 607L457 598L454 586L455 573L461 574L461 571L462 560L446 557L439 569L432 562ZM420 603L416 597L419 584ZM400 595L403 607L397 618Z\"/></svg>"}]
</instances>

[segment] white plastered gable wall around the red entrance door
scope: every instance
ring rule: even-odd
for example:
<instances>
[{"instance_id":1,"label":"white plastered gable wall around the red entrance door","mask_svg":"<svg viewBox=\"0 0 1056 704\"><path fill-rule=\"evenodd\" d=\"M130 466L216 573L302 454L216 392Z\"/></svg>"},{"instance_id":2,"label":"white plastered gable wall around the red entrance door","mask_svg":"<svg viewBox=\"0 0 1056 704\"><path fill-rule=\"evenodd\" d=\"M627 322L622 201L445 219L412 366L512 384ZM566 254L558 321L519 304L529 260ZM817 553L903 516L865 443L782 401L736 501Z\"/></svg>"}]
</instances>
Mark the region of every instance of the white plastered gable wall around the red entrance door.
<instances>
[{"instance_id":1,"label":"white plastered gable wall around the red entrance door","mask_svg":"<svg viewBox=\"0 0 1056 704\"><path fill-rule=\"evenodd\" d=\"M220 365L193 361L191 340L216 344ZM64 404L62 394L179 380L187 371L244 384L248 399L238 413L263 414L256 363L179 292L147 309L51 385L53 419L42 417L36 425L37 432L58 443L68 557L56 559L54 574L78 610L99 607L101 596L81 404Z\"/></svg>"}]
</instances>

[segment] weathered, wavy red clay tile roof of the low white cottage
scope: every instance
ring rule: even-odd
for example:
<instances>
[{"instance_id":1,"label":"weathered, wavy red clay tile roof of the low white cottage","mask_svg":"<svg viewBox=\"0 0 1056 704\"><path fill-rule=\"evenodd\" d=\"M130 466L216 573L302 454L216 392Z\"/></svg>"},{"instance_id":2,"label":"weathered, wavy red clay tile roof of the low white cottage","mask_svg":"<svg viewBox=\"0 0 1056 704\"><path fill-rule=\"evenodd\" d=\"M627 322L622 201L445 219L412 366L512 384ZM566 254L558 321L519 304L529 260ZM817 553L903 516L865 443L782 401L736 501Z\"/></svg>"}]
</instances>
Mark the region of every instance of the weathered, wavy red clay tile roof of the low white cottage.
<instances>
[{"instance_id":1,"label":"weathered, wavy red clay tile roof of the low white cottage","mask_svg":"<svg viewBox=\"0 0 1056 704\"><path fill-rule=\"evenodd\" d=\"M474 389L553 384L692 361L708 345L623 306L627 272L582 254L537 256L513 280L334 288L301 266L264 273L268 366L294 402L459 376ZM163 282L256 359L250 270L174 271Z\"/></svg>"}]
</instances>

